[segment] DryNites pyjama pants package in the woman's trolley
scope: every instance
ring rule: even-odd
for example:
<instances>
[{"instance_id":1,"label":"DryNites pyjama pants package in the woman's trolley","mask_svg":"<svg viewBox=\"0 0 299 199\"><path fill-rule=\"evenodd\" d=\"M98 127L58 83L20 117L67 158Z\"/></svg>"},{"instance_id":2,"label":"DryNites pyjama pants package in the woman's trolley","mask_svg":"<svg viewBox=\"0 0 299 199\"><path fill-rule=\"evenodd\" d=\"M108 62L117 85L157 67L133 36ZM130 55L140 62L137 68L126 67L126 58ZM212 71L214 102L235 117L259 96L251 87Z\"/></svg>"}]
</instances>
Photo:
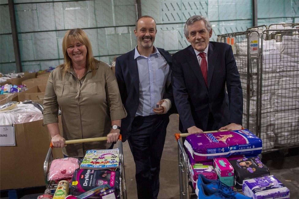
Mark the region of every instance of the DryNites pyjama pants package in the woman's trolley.
<instances>
[{"instance_id":1,"label":"DryNites pyjama pants package in the woman's trolley","mask_svg":"<svg viewBox=\"0 0 299 199\"><path fill-rule=\"evenodd\" d=\"M119 175L119 171L111 171L109 169L77 169L74 172L70 190L73 195L84 193L101 185L109 185L119 190Z\"/></svg>"}]
</instances>

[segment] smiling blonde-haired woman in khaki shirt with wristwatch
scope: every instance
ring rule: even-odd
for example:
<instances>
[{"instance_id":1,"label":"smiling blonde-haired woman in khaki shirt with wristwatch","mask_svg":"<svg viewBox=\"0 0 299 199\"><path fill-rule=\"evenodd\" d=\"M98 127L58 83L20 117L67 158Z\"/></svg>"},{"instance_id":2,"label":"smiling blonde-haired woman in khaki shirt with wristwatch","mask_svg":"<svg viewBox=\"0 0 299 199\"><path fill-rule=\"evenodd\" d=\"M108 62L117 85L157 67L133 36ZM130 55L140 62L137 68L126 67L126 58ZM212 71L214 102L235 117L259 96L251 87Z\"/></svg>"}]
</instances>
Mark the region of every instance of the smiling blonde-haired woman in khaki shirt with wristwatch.
<instances>
[{"instance_id":1,"label":"smiling blonde-haired woman in khaki shirt with wristwatch","mask_svg":"<svg viewBox=\"0 0 299 199\"><path fill-rule=\"evenodd\" d=\"M84 157L86 150L106 149L117 141L127 113L112 70L93 57L91 43L80 28L68 30L62 41L64 64L49 76L44 97L44 124L54 147L64 156ZM58 128L58 109L62 132ZM62 135L61 135L62 133ZM107 136L107 142L65 145L65 140Z\"/></svg>"}]
</instances>

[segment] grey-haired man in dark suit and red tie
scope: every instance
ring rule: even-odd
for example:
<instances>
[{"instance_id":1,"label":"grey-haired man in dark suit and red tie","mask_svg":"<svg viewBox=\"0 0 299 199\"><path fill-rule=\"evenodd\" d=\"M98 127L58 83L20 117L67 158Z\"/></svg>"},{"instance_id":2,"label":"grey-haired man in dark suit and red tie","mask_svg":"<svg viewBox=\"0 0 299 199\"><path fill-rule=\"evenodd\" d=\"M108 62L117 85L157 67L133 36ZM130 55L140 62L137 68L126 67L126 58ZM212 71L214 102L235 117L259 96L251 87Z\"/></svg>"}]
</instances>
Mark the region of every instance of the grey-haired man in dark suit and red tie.
<instances>
[{"instance_id":1,"label":"grey-haired man in dark suit and red tie","mask_svg":"<svg viewBox=\"0 0 299 199\"><path fill-rule=\"evenodd\" d=\"M172 56L171 76L180 131L241 129L243 96L232 47L210 42L212 26L199 15L187 20L184 35L191 45Z\"/></svg>"}]
</instances>

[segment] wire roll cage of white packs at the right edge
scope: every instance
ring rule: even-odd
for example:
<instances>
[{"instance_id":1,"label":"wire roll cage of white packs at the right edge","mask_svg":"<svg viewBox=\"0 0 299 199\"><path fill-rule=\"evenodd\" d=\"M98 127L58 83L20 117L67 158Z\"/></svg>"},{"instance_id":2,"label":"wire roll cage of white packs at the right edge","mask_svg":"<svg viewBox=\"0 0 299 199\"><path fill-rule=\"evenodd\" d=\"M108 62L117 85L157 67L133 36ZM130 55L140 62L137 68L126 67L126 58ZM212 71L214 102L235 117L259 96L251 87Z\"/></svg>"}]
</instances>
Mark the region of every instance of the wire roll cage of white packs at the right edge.
<instances>
[{"instance_id":1,"label":"wire roll cage of white packs at the right edge","mask_svg":"<svg viewBox=\"0 0 299 199\"><path fill-rule=\"evenodd\" d=\"M274 25L283 25L283 27L290 28L296 25L299 26L299 23L271 24L269 25L269 28ZM259 97L261 98L264 93L271 93L271 98L274 100L269 102L271 111L266 113L262 112L262 110L264 110L265 104L259 102L259 118L265 118L264 115L272 114L274 115L274 117L272 117L274 121L270 121L270 119L265 119L262 121L259 119L259 137L261 137L261 129L265 128L265 126L271 123L271 125L274 126L272 127L274 137L271 140L274 143L274 148L264 150L263 153L280 150L283 155L286 155L288 153L288 148L299 146L298 138L297 142L294 141L296 139L293 139L293 136L296 137L296 134L299 136L299 114L297 114L297 112L299 113L299 96L294 95L296 92L299 93L299 63L296 61L292 63L291 61L292 58L297 60L299 59L299 49L292 47L284 49L288 51L292 57L290 56L288 58L283 58L282 50L278 44L270 43L270 41L273 40L278 43L282 42L283 36L295 36L298 38L299 29L267 29L264 30L261 35L262 38L267 38L266 41L268 41L268 43L261 44L261 58L263 58L268 65L272 65L273 71L267 73L264 72L264 68L267 66L267 64L261 61ZM291 43L292 39L286 39L285 41L286 43ZM297 45L298 44L299 43L297 43ZM283 44L281 44L281 47L282 46ZM264 52L264 49L267 48L277 48L279 51L277 51L276 55L267 55L266 50ZM277 55L279 55L279 62L277 61ZM267 78L265 78L265 76L267 76ZM264 86L268 82L276 82L277 78L279 81L275 83L275 86ZM295 90L295 92L293 90ZM282 115L285 117L284 120L281 118ZM289 133L289 135L287 133Z\"/></svg>"}]
</instances>

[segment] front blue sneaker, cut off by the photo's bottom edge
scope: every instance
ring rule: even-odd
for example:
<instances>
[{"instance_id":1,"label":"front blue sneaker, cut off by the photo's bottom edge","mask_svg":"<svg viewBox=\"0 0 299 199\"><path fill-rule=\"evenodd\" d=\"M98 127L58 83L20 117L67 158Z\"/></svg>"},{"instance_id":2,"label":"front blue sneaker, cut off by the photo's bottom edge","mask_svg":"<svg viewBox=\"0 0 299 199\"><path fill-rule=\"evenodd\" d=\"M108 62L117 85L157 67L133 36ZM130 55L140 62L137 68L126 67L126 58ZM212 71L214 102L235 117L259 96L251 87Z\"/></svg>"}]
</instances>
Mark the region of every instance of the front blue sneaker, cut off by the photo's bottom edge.
<instances>
[{"instance_id":1,"label":"front blue sneaker, cut off by the photo's bottom edge","mask_svg":"<svg viewBox=\"0 0 299 199\"><path fill-rule=\"evenodd\" d=\"M236 199L236 197L223 193L219 189L209 189L205 184L202 183L197 183L195 193L197 194L198 199Z\"/></svg>"}]
</instances>

